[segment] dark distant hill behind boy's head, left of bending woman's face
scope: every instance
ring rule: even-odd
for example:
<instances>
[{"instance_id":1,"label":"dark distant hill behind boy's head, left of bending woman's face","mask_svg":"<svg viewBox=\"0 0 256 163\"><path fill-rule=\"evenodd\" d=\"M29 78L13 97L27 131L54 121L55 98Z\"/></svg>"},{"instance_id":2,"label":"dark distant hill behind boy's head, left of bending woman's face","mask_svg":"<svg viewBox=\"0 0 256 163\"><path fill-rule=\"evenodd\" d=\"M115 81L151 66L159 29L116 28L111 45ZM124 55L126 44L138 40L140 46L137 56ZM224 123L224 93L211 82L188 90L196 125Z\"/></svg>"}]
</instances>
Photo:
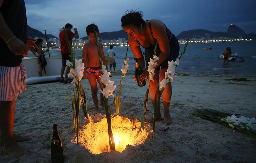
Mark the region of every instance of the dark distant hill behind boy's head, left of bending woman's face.
<instances>
[{"instance_id":1,"label":"dark distant hill behind boy's head, left of bending woman's face","mask_svg":"<svg viewBox=\"0 0 256 163\"><path fill-rule=\"evenodd\" d=\"M128 35L124 30L115 31L115 32L102 32L99 33L99 38L102 40L113 40L118 38L128 39ZM82 40L88 40L88 37L81 38Z\"/></svg>"}]
</instances>

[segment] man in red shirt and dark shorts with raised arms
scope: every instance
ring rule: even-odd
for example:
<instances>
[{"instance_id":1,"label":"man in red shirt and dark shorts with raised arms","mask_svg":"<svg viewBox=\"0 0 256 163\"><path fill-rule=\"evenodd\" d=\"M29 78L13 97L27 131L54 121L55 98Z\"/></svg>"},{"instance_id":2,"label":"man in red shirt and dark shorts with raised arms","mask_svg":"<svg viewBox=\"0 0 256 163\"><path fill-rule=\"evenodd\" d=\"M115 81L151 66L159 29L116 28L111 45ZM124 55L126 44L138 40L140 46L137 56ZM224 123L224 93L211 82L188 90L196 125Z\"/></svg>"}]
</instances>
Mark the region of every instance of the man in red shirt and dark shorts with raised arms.
<instances>
[{"instance_id":1,"label":"man in red shirt and dark shorts with raised arms","mask_svg":"<svg viewBox=\"0 0 256 163\"><path fill-rule=\"evenodd\" d=\"M73 38L76 38L76 39L79 38L77 28L74 28L75 33L73 33L71 31L73 26L69 23L66 24L64 28L65 28L66 33L68 35L69 41L72 41ZM61 67L61 71L60 71L60 80L59 80L59 82L67 84L68 83L68 73L69 73L70 67L68 66L66 68L66 62L67 62L67 60L69 60L69 61L71 61L71 60L69 58L69 55L70 55L69 48L68 48L69 46L68 46L68 44L66 43L66 40L65 40L64 30L59 33L59 40L60 40L60 52L61 52L61 57L62 57L62 67ZM65 78L63 79L65 68L66 68L66 73L65 73Z\"/></svg>"}]
</instances>

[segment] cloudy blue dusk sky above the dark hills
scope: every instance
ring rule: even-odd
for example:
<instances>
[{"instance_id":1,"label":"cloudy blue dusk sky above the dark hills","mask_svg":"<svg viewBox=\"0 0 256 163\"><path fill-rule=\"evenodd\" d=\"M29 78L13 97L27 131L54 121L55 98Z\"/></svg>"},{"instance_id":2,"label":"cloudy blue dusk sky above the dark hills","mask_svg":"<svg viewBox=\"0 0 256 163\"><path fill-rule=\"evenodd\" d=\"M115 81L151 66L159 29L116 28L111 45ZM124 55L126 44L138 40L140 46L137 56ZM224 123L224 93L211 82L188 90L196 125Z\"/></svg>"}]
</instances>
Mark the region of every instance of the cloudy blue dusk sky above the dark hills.
<instances>
[{"instance_id":1,"label":"cloudy blue dusk sky above the dark hills","mask_svg":"<svg viewBox=\"0 0 256 163\"><path fill-rule=\"evenodd\" d=\"M125 11L138 9L143 19L159 19L175 34L204 29L226 32L235 24L245 33L256 33L255 0L24 0L27 23L47 34L59 36L66 23L85 37L85 27L92 22L101 32L122 30ZM72 30L73 31L73 30Z\"/></svg>"}]
</instances>

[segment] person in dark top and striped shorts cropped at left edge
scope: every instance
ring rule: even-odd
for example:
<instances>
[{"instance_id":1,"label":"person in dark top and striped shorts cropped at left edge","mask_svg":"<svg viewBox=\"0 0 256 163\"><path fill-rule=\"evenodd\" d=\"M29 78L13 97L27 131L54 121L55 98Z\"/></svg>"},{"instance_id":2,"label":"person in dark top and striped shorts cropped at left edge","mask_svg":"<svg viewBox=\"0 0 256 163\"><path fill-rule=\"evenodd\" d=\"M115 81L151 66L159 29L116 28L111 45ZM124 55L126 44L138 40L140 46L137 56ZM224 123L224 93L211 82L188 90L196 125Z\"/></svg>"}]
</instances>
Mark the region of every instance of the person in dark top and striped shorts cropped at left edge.
<instances>
[{"instance_id":1,"label":"person in dark top and striped shorts cropped at left edge","mask_svg":"<svg viewBox=\"0 0 256 163\"><path fill-rule=\"evenodd\" d=\"M13 132L15 102L26 91L27 74L21 59L28 49L35 53L37 48L36 40L27 36L24 0L0 0L0 29L0 145L4 145L4 154L20 157L31 153L17 143L31 138Z\"/></svg>"}]
</instances>

